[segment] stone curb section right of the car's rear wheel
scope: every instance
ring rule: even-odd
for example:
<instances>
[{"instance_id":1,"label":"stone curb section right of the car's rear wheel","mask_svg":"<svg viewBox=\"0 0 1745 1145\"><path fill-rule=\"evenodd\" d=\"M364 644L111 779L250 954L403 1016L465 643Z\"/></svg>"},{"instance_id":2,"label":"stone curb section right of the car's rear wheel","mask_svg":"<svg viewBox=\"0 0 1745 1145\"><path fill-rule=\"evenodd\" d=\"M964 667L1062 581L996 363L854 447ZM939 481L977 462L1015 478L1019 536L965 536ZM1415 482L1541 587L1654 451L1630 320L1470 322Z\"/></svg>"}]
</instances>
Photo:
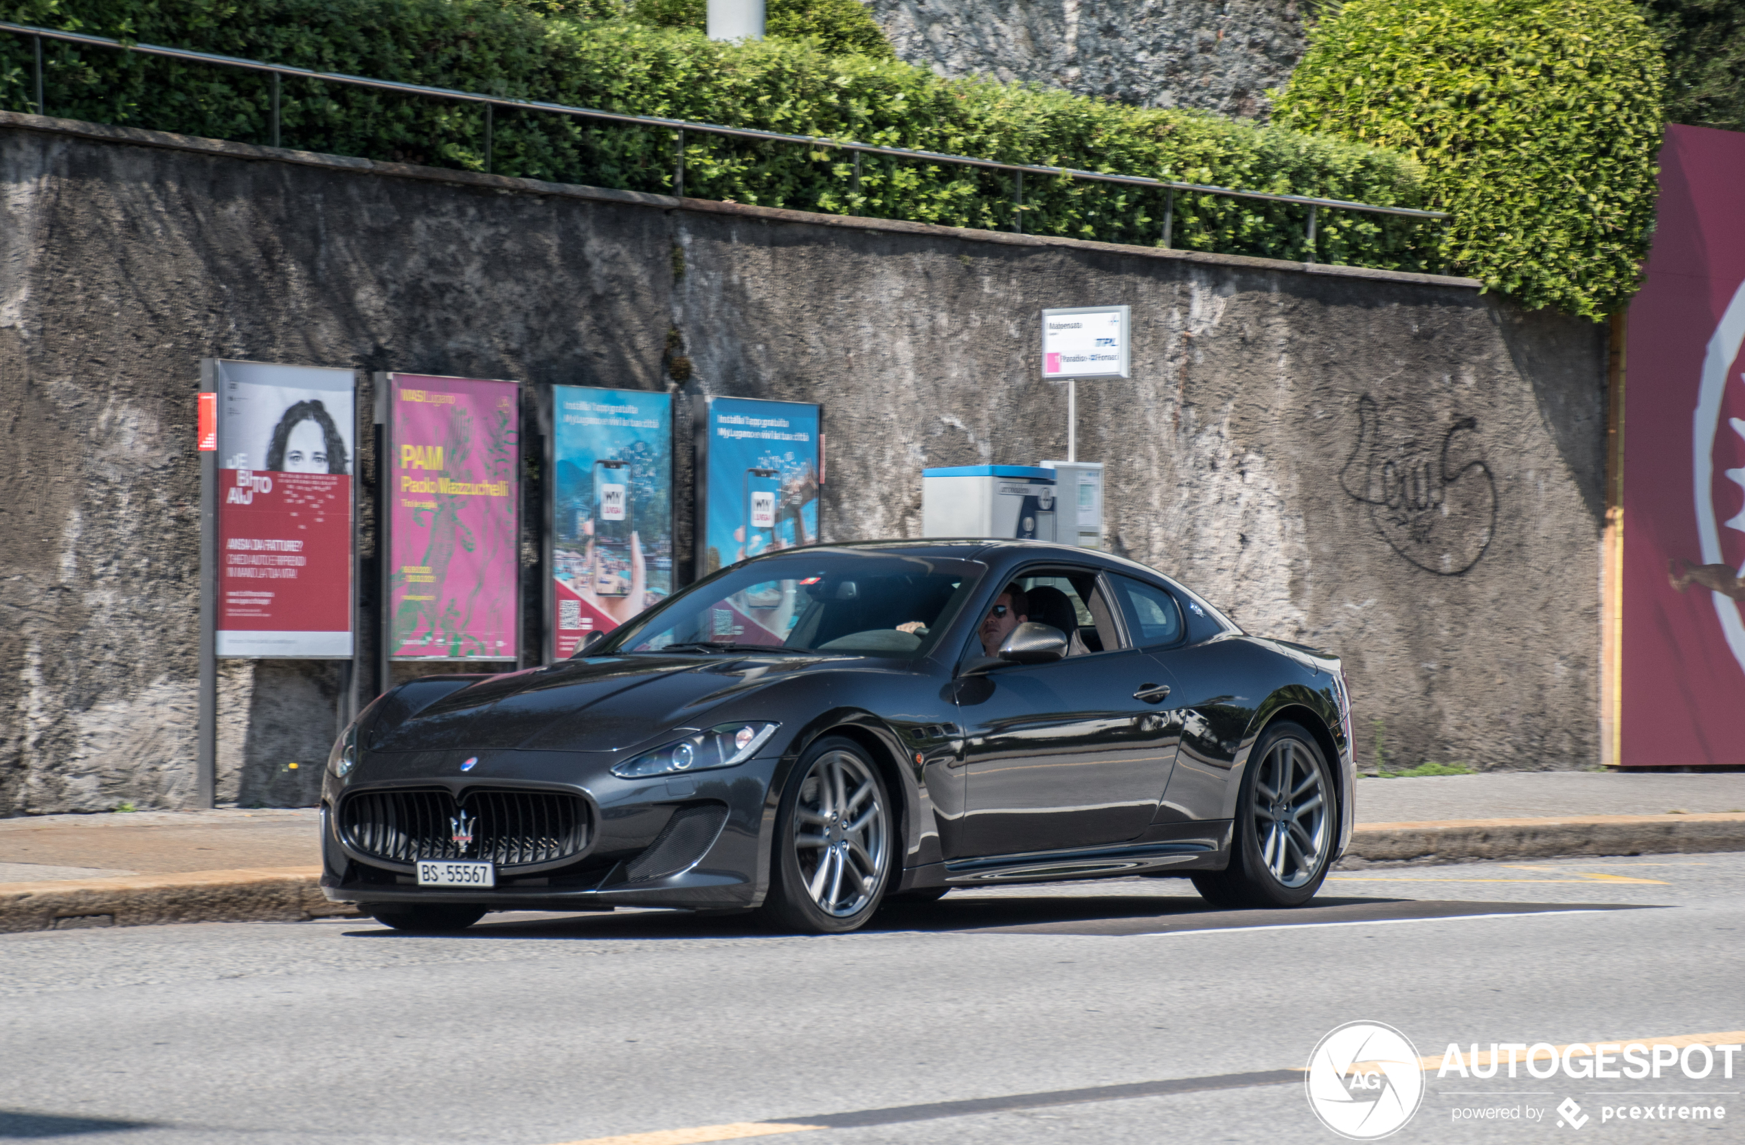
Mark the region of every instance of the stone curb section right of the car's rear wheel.
<instances>
[{"instance_id":1,"label":"stone curb section right of the car's rear wheel","mask_svg":"<svg viewBox=\"0 0 1745 1145\"><path fill-rule=\"evenodd\" d=\"M1588 815L1358 824L1342 869L1482 859L1579 859L1745 850L1745 815Z\"/></svg>"}]
</instances>

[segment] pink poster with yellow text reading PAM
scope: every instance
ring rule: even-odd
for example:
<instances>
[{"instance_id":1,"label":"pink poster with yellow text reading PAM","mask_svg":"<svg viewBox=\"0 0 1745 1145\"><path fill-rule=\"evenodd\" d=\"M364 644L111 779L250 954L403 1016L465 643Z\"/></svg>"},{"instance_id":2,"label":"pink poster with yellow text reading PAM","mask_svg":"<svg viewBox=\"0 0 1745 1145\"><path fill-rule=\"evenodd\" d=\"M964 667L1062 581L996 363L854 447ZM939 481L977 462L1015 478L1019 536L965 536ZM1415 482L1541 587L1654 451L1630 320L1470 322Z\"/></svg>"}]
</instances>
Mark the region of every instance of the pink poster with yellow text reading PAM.
<instances>
[{"instance_id":1,"label":"pink poster with yellow text reading PAM","mask_svg":"<svg viewBox=\"0 0 1745 1145\"><path fill-rule=\"evenodd\" d=\"M515 660L520 384L387 375L387 655Z\"/></svg>"}]
</instances>

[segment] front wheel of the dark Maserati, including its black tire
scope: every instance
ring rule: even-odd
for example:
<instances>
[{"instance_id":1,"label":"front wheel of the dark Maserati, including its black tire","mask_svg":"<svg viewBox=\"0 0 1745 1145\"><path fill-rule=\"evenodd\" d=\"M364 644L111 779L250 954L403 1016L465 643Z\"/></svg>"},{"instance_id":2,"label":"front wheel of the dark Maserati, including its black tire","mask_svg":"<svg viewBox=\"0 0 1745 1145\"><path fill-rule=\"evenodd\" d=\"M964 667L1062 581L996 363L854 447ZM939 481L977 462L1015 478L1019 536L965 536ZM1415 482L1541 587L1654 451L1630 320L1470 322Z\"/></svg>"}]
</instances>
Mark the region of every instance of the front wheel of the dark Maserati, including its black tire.
<instances>
[{"instance_id":1,"label":"front wheel of the dark Maserati, including its black tire","mask_svg":"<svg viewBox=\"0 0 1745 1145\"><path fill-rule=\"evenodd\" d=\"M890 883L893 829L866 749L841 737L808 747L777 813L764 920L799 934L859 930Z\"/></svg>"}]
</instances>

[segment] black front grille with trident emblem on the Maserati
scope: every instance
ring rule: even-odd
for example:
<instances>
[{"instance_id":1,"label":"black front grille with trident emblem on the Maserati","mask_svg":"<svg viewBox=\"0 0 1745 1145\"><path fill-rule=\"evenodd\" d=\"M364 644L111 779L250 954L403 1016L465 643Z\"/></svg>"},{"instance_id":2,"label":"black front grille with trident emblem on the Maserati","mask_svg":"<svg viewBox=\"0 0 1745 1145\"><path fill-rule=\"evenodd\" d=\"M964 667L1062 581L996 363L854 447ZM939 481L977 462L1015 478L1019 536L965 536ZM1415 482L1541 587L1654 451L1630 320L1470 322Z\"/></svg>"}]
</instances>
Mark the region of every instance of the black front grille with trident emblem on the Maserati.
<instances>
[{"instance_id":1,"label":"black front grille with trident emblem on the Maserati","mask_svg":"<svg viewBox=\"0 0 1745 1145\"><path fill-rule=\"evenodd\" d=\"M459 803L448 791L359 791L340 803L339 817L352 850L387 862L475 859L529 867L588 847L588 801L562 791L475 789Z\"/></svg>"}]
</instances>

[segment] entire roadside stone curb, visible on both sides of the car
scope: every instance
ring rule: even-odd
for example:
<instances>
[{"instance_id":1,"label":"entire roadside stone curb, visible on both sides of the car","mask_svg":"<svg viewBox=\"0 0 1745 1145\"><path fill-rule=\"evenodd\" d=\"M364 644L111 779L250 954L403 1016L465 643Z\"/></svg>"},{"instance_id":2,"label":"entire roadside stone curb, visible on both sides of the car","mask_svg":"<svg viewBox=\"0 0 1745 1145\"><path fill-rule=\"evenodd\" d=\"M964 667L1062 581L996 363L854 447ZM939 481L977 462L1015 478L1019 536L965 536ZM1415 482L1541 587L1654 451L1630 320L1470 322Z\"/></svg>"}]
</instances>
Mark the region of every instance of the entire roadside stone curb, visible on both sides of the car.
<instances>
[{"instance_id":1,"label":"entire roadside stone curb, visible on both sides of the car","mask_svg":"<svg viewBox=\"0 0 1745 1145\"><path fill-rule=\"evenodd\" d=\"M1745 852L1745 813L1468 819L1359 824L1338 867L1728 850ZM0 883L0 934L178 922L354 918L354 906L326 901L319 880L319 867L255 867Z\"/></svg>"}]
</instances>

